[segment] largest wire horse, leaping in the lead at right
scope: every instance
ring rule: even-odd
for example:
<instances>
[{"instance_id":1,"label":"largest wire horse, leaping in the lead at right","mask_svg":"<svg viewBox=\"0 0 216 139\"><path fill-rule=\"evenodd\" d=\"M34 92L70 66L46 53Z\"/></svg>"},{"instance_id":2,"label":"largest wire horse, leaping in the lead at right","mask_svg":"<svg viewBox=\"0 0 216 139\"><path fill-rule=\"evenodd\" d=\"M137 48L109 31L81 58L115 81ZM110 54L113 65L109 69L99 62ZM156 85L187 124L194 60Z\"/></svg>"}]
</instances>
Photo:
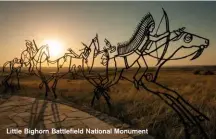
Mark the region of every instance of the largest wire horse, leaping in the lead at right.
<instances>
[{"instance_id":1,"label":"largest wire horse, leaping in the lead at right","mask_svg":"<svg viewBox=\"0 0 216 139\"><path fill-rule=\"evenodd\" d=\"M150 15L147 16L151 18ZM166 19L167 25L169 25L168 16L165 11L164 17ZM146 19L146 17L144 17L144 19ZM146 25L146 23L149 23L149 28L146 28L148 26ZM155 39L152 39L154 37L152 37L151 39L149 39L150 37L147 37L147 39L145 40L144 37L146 36L143 35L148 34L145 33L145 29L152 31L152 28L154 28L154 24L150 20L142 20L130 41L124 44L119 44L117 48L115 46L112 46L111 43L105 39L105 43L107 44L108 48L111 48L111 50L101 51L101 53L106 52L106 55L104 55L104 57L102 58L102 63L107 66L107 75L110 74L108 65L114 63L115 75L113 77L107 76L107 78L103 80L103 88L110 88L111 86L117 84L120 79L126 79L132 82L137 89L139 89L139 87L143 87L147 91L161 98L178 114L185 127L185 137L187 139L191 137L189 130L191 130L192 127L198 127L203 137L205 139L208 139L208 136L200 125L201 121L209 120L208 117L191 106L176 91L158 83L157 77L161 67L169 60L179 60L190 56L193 56L191 60L198 58L202 54L203 50L208 47L209 40L201 36L186 32L184 31L185 28L170 32L169 26L167 26L167 32L160 35L162 37L155 35L157 36ZM152 49L151 41L155 43L163 39L166 39L164 43L162 43L160 46L156 46L155 49ZM175 46L171 46L172 43L175 43ZM162 54L160 56L157 53L159 49L162 49ZM168 50L171 50L173 52L168 53ZM181 51L184 51L184 53L182 54ZM113 52L116 52L116 54L113 54ZM158 60L158 62L156 63L157 69L154 75L148 73L148 60L146 59L146 56L150 56ZM121 67L120 63L125 63L125 66ZM135 64L138 64L139 67L133 79L124 77L123 73L125 69L129 69ZM141 69L145 70L142 71L141 76L137 78L138 72ZM147 82L148 85L146 84Z\"/></svg>"}]
</instances>

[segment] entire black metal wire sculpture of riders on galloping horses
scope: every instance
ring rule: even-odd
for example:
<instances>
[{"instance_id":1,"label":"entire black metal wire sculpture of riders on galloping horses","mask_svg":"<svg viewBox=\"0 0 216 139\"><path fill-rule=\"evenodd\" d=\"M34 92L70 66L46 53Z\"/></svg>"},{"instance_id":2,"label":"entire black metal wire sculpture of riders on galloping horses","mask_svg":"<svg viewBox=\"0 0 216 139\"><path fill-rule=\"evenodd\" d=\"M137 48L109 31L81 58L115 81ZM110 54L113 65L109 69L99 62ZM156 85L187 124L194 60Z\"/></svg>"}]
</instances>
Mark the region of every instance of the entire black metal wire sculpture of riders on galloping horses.
<instances>
[{"instance_id":1,"label":"entire black metal wire sculpture of riders on galloping horses","mask_svg":"<svg viewBox=\"0 0 216 139\"><path fill-rule=\"evenodd\" d=\"M170 106L179 116L185 129L185 138L191 138L191 131L193 128L198 128L203 138L208 139L206 132L201 126L202 121L209 120L207 116L201 113L198 109L189 104L181 95L157 81L161 67L171 60L180 60L191 57L191 60L198 58L204 49L209 46L209 40L201 36L189 33L185 31L185 28L180 28L174 31L169 29L169 19L166 11L163 9L163 17L156 30L156 34L152 35L155 28L155 21L150 13L145 15L138 24L134 34L125 43L119 43L117 46L113 46L107 39L104 40L106 46L101 49L98 39L98 35L94 37L89 45L84 45L81 53L78 55L72 49L68 49L69 53L65 53L62 57L52 61L50 60L49 46L43 45L37 47L35 41L26 42L26 50L21 53L21 58L14 59L6 62L5 65L10 65L10 74L3 80L5 87L8 86L8 80L15 72L17 77L21 72L21 68L25 65L28 67L28 72L32 75L36 75L41 79L39 88L42 89L45 86L45 97L50 92L49 83L53 81L52 92L55 98L56 86L58 81L68 73L78 74L81 72L81 76L84 77L90 84L94 86L93 98L91 105L94 105L95 99L99 100L104 97L107 105L111 108L109 90L112 86L117 85L120 80L127 80L135 86L136 89L147 90L148 92L158 96L168 106ZM163 18L166 22L166 31L158 35L159 27ZM158 42L162 42L159 46ZM180 44L171 46L172 43L180 42ZM153 47L153 44L155 47ZM172 53L168 53L168 50L172 49ZM158 51L162 51L159 54ZM184 55L178 56L180 51L184 51ZM70 58L69 67L67 72L60 72L62 66L66 63L67 57ZM94 72L95 59L100 58L101 64L105 66L105 74ZM133 58L132 58L133 57ZM151 57L157 60L156 71L151 73L149 71L148 60L146 57ZM72 59L80 59L80 65L72 65ZM119 63L123 61L122 67ZM15 68L15 64L20 64L18 68ZM49 77L45 75L42 69L42 64L56 64L56 71L51 73ZM110 70L109 65L114 63L114 71ZM138 69L133 75L133 78L128 78L123 75L126 69L132 68L135 64L138 65ZM141 75L138 74L141 72ZM110 76L112 75L112 76ZM17 78L19 83L19 78ZM149 85L150 84L150 85ZM157 88L157 89L156 89ZM159 89L158 89L159 88Z\"/></svg>"}]
</instances>

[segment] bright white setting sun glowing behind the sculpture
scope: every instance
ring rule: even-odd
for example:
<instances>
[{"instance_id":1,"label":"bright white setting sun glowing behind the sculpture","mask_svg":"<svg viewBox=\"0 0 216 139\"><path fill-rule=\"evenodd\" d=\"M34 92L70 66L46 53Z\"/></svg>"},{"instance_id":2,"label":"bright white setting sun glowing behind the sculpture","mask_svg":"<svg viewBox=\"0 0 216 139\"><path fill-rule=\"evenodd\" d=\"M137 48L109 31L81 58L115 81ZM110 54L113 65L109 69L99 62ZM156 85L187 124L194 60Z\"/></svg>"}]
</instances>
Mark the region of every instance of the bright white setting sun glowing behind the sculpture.
<instances>
[{"instance_id":1,"label":"bright white setting sun glowing behind the sculpture","mask_svg":"<svg viewBox=\"0 0 216 139\"><path fill-rule=\"evenodd\" d=\"M49 52L51 57L61 57L63 52L62 43L56 40L46 40L45 44L49 45Z\"/></svg>"}]
</instances>

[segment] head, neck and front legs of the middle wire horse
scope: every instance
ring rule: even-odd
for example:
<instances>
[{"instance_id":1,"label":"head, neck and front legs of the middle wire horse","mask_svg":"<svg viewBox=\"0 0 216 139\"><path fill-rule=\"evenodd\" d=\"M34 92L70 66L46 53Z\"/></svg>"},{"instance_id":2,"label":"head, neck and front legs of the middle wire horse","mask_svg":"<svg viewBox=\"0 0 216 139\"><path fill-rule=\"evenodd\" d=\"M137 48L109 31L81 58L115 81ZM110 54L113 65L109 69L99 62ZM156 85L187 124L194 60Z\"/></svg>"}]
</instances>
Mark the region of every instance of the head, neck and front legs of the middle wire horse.
<instances>
[{"instance_id":1,"label":"head, neck and front legs of the middle wire horse","mask_svg":"<svg viewBox=\"0 0 216 139\"><path fill-rule=\"evenodd\" d=\"M98 55L101 53L101 50L99 49L99 40L98 35L96 34L96 37L92 39L91 43L87 46L86 44L82 43L84 45L84 52L81 54L82 56L82 65L78 66L79 70L81 71L84 78L92 84L95 89L93 91L94 95L91 101L91 105L94 105L95 98L97 100L100 99L101 96L103 96L108 104L109 107L111 107L110 104L110 97L108 95L108 88L104 88L103 81L108 78L107 75L101 75L98 72L93 71L93 67L95 64L95 58L98 57ZM105 52L106 50L104 50Z\"/></svg>"}]
</instances>

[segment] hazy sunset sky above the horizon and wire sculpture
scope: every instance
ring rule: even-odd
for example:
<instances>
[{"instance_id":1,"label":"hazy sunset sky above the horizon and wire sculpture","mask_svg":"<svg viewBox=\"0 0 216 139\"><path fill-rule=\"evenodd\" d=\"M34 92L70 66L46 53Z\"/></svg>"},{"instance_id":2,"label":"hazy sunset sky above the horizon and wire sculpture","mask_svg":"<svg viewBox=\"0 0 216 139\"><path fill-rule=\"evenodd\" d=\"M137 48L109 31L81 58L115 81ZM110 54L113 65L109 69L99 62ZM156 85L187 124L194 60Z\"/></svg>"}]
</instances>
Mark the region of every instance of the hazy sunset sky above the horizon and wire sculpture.
<instances>
[{"instance_id":1,"label":"hazy sunset sky above the horizon and wire sculpture","mask_svg":"<svg viewBox=\"0 0 216 139\"><path fill-rule=\"evenodd\" d=\"M96 33L103 48L107 38L113 45L127 41L138 22L150 12L158 26L164 8L170 30L186 27L188 32L210 40L210 46L195 61L179 60L167 65L215 65L216 2L0 2L0 65L19 57L25 40L42 45L58 40L63 50L75 52L89 44ZM165 25L161 25L163 29ZM54 58L56 58L55 56ZM53 59L54 59L53 58Z\"/></svg>"}]
</instances>

